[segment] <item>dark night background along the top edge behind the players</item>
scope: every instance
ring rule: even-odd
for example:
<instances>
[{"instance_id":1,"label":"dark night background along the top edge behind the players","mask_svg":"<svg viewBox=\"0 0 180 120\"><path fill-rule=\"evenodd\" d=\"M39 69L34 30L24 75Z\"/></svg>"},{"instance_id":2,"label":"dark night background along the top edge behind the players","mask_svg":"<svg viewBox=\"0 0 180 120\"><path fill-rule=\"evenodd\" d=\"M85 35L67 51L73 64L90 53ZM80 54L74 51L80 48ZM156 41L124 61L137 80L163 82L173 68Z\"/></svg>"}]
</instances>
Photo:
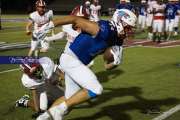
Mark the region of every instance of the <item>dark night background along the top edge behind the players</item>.
<instances>
[{"instance_id":1,"label":"dark night background along the top edge behind the players","mask_svg":"<svg viewBox=\"0 0 180 120\"><path fill-rule=\"evenodd\" d=\"M83 3L84 0L44 0L48 7L55 12L71 11L76 5ZM133 0L137 2L138 0ZM139 0L140 1L140 0ZM36 0L0 0L2 13L28 13L34 10ZM100 0L103 10L115 7L119 0Z\"/></svg>"}]
</instances>

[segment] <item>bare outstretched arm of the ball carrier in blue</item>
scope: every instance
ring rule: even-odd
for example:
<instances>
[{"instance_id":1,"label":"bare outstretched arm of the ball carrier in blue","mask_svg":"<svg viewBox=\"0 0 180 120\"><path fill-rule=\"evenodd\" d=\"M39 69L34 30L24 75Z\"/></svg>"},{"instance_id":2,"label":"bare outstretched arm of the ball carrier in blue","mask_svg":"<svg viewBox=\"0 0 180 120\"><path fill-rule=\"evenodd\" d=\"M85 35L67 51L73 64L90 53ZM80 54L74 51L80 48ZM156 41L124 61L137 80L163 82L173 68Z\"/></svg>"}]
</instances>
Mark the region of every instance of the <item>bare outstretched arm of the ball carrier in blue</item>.
<instances>
[{"instance_id":1,"label":"bare outstretched arm of the ball carrier in blue","mask_svg":"<svg viewBox=\"0 0 180 120\"><path fill-rule=\"evenodd\" d=\"M75 27L80 28L82 31L87 32L93 36L97 35L99 32L99 26L97 23L77 16L59 17L53 22L55 26L73 24Z\"/></svg>"}]
</instances>

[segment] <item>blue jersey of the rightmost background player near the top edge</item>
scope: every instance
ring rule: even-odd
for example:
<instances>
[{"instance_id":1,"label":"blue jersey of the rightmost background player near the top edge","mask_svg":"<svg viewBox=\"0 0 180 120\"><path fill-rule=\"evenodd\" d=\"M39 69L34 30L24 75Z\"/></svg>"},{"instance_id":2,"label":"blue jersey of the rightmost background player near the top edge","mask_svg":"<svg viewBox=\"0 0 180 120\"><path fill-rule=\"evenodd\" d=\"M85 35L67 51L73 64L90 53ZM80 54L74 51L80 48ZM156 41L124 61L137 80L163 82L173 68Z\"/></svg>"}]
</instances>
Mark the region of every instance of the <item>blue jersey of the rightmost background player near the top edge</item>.
<instances>
[{"instance_id":1,"label":"blue jersey of the rightmost background player near the top edge","mask_svg":"<svg viewBox=\"0 0 180 120\"><path fill-rule=\"evenodd\" d=\"M165 8L166 19L175 19L177 10L178 10L178 8L175 4L168 3Z\"/></svg>"}]
</instances>

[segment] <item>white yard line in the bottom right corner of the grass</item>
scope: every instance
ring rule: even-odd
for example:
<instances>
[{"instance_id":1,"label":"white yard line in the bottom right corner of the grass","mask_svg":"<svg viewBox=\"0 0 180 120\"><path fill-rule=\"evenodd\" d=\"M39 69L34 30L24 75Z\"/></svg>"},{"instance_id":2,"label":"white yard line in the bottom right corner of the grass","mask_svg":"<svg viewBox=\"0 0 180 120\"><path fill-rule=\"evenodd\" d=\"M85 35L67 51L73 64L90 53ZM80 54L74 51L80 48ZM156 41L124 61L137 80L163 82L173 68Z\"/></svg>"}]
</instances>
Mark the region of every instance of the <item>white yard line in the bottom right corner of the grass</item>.
<instances>
[{"instance_id":1,"label":"white yard line in the bottom right corner of the grass","mask_svg":"<svg viewBox=\"0 0 180 120\"><path fill-rule=\"evenodd\" d=\"M176 105L175 107L171 108L170 110L164 112L162 115L152 119L152 120L164 120L166 119L167 117L171 116L172 114L176 113L180 111L180 104L179 105Z\"/></svg>"}]
</instances>

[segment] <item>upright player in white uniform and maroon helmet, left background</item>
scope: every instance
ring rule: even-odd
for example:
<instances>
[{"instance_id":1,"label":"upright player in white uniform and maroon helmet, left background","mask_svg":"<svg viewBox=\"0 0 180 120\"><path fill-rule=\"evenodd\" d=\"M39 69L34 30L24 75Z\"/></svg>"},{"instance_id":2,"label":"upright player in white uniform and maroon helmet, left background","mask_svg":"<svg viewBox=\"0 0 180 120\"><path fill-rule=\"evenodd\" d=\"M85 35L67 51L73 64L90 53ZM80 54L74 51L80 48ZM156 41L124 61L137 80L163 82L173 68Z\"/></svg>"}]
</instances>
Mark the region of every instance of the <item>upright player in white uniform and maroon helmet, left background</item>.
<instances>
[{"instance_id":1,"label":"upright player in white uniform and maroon helmet, left background","mask_svg":"<svg viewBox=\"0 0 180 120\"><path fill-rule=\"evenodd\" d=\"M36 2L36 11L31 13L29 16L29 22L26 25L26 34L31 35L32 27L32 39L31 48L29 50L28 56L38 56L38 47L41 45L41 52L47 52L49 48L49 43L44 41L44 36L41 36L41 27L49 23L53 18L52 10L46 11L46 3L43 0L38 0Z\"/></svg>"}]
</instances>

